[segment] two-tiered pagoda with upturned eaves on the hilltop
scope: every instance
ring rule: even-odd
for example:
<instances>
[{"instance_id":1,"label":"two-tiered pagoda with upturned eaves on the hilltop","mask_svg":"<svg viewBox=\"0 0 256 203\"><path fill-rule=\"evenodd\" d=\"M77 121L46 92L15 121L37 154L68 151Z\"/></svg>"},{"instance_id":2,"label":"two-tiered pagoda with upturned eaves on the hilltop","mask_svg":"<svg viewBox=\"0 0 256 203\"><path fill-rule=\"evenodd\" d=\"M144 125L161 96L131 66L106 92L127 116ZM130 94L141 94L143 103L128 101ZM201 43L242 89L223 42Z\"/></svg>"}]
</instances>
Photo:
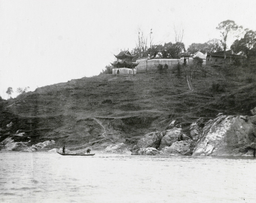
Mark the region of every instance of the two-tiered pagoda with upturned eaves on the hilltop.
<instances>
[{"instance_id":1,"label":"two-tiered pagoda with upturned eaves on the hilltop","mask_svg":"<svg viewBox=\"0 0 256 203\"><path fill-rule=\"evenodd\" d=\"M126 50L121 51L118 55L114 56L116 57L116 61L111 63L114 67L112 69L113 74L136 74L136 70L134 70L134 68L138 63L132 62L135 55L131 55L131 53Z\"/></svg>"}]
</instances>

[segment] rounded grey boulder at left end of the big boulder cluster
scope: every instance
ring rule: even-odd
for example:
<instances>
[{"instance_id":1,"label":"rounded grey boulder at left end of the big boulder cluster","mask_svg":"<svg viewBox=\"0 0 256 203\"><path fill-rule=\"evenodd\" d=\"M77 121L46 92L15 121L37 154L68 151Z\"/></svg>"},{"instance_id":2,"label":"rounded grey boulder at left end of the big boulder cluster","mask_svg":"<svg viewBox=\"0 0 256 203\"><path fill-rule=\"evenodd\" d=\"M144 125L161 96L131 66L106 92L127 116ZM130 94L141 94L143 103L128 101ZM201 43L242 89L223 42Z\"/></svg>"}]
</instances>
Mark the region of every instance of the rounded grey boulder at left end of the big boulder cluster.
<instances>
[{"instance_id":1,"label":"rounded grey boulder at left end of the big boulder cluster","mask_svg":"<svg viewBox=\"0 0 256 203\"><path fill-rule=\"evenodd\" d=\"M136 146L134 146L134 150L140 149L140 148L159 148L161 139L163 137L163 134L160 132L152 132L144 135L137 143Z\"/></svg>"}]
</instances>

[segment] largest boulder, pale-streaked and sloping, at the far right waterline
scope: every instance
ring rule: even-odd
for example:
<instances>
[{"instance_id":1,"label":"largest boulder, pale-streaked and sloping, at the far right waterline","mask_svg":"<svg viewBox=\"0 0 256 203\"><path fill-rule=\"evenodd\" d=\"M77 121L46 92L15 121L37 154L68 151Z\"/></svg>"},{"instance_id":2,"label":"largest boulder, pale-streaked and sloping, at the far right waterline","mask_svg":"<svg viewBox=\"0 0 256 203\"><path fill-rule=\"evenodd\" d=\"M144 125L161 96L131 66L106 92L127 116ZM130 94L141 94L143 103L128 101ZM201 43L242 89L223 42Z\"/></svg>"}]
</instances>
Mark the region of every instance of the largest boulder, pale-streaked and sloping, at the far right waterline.
<instances>
[{"instance_id":1,"label":"largest boulder, pale-streaked and sloping, at the far right waterline","mask_svg":"<svg viewBox=\"0 0 256 203\"><path fill-rule=\"evenodd\" d=\"M256 116L219 115L205 124L192 155L242 156L255 139Z\"/></svg>"}]
</instances>

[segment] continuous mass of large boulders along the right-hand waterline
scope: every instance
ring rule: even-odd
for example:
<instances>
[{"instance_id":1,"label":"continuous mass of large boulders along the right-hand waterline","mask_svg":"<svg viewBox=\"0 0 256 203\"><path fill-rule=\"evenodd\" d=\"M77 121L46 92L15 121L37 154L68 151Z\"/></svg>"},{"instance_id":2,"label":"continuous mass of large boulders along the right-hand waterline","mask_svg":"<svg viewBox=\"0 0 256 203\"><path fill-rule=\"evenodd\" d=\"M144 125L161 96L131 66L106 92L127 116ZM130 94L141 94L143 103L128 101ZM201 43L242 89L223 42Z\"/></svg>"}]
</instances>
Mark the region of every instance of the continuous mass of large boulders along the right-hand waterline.
<instances>
[{"instance_id":1,"label":"continuous mass of large boulders along the right-hand waterline","mask_svg":"<svg viewBox=\"0 0 256 203\"><path fill-rule=\"evenodd\" d=\"M171 126L163 132L143 136L132 148L133 155L171 156L253 156L256 149L256 115L198 119L186 135L182 128ZM174 122L172 122L174 123Z\"/></svg>"}]
</instances>

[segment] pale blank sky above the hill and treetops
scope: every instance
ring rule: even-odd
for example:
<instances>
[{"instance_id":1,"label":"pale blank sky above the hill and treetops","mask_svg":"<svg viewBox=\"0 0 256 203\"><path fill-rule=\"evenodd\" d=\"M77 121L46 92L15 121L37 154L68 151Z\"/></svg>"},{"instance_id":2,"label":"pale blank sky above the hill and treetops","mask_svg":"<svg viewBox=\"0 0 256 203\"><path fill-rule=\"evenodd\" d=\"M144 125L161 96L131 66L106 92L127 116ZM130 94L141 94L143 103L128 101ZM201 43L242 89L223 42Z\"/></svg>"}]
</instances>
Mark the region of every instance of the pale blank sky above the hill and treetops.
<instances>
[{"instance_id":1,"label":"pale blank sky above the hill and treetops","mask_svg":"<svg viewBox=\"0 0 256 203\"><path fill-rule=\"evenodd\" d=\"M138 29L164 44L182 28L187 48L220 39L224 20L256 31L256 1L0 0L0 96L99 75L114 54L136 47Z\"/></svg>"}]
</instances>

